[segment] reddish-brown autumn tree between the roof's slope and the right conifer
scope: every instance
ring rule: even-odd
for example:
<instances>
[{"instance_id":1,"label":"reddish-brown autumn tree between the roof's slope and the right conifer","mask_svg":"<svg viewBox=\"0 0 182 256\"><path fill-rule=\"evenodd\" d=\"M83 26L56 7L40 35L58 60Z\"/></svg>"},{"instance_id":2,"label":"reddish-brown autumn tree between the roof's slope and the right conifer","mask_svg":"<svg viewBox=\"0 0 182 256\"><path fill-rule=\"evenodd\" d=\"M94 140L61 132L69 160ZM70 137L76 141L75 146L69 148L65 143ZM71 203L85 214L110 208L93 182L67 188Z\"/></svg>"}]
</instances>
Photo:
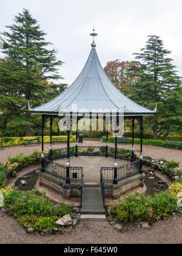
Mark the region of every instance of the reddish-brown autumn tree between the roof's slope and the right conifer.
<instances>
[{"instance_id":1,"label":"reddish-brown autumn tree between the roof's slope and the right conifer","mask_svg":"<svg viewBox=\"0 0 182 256\"><path fill-rule=\"evenodd\" d=\"M113 60L107 62L104 71L106 72L112 83L121 91L127 90L127 85L134 84L136 77L129 76L128 69L132 66L131 62L121 62L121 60Z\"/></svg>"}]
</instances>

